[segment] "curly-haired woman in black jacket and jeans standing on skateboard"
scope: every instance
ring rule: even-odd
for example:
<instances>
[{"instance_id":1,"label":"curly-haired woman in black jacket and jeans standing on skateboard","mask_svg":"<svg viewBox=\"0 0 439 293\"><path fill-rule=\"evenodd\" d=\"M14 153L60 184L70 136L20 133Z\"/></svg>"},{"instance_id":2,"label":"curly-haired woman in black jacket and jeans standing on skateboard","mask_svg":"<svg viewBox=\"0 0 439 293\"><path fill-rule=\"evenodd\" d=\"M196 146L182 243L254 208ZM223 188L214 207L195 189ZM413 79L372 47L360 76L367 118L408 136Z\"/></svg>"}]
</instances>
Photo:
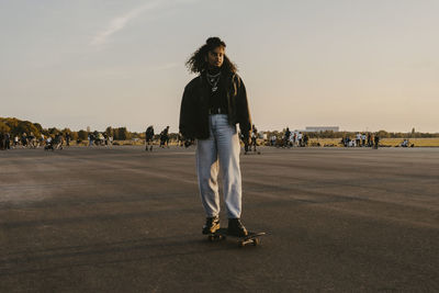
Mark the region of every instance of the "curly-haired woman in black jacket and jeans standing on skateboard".
<instances>
[{"instance_id":1,"label":"curly-haired woman in black jacket and jeans standing on skateboard","mask_svg":"<svg viewBox=\"0 0 439 293\"><path fill-rule=\"evenodd\" d=\"M236 124L248 142L250 112L243 79L225 55L226 44L210 37L188 60L189 70L199 74L185 88L180 110L180 132L196 138L196 171L206 222L203 234L219 228L217 177L222 172L227 232L245 236L241 217L241 173Z\"/></svg>"}]
</instances>

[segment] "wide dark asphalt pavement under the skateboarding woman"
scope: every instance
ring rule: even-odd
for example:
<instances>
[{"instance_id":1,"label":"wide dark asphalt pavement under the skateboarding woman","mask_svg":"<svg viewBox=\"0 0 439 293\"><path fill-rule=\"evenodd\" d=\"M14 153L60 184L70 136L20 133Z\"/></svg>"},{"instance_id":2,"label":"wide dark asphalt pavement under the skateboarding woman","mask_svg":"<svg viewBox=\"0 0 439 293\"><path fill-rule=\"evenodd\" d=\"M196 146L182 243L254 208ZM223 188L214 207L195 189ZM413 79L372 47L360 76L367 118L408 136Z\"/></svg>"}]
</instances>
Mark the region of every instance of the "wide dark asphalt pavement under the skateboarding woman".
<instances>
[{"instance_id":1,"label":"wide dark asphalt pavement under the skateboarding woman","mask_svg":"<svg viewBox=\"0 0 439 293\"><path fill-rule=\"evenodd\" d=\"M244 248L201 234L193 147L0 151L0 292L439 292L439 148L260 149Z\"/></svg>"}]
</instances>

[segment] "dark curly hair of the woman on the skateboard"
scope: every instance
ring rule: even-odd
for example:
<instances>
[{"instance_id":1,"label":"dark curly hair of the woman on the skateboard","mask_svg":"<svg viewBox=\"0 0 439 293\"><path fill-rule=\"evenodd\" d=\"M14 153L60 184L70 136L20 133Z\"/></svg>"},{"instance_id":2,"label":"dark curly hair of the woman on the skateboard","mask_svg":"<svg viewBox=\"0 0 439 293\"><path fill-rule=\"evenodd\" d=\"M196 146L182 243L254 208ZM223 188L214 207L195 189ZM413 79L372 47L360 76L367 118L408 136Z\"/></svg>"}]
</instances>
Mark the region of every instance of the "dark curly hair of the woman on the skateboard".
<instances>
[{"instance_id":1,"label":"dark curly hair of the woman on the skateboard","mask_svg":"<svg viewBox=\"0 0 439 293\"><path fill-rule=\"evenodd\" d=\"M193 74L201 74L205 69L207 69L207 60L206 56L210 50L213 50L217 47L226 47L226 43L224 43L219 37L210 37L206 40L206 43L202 45L198 50L195 50L189 60L185 63L188 70ZM223 66L221 67L222 71L233 72L237 71L236 65L228 59L227 55L224 55Z\"/></svg>"}]
</instances>

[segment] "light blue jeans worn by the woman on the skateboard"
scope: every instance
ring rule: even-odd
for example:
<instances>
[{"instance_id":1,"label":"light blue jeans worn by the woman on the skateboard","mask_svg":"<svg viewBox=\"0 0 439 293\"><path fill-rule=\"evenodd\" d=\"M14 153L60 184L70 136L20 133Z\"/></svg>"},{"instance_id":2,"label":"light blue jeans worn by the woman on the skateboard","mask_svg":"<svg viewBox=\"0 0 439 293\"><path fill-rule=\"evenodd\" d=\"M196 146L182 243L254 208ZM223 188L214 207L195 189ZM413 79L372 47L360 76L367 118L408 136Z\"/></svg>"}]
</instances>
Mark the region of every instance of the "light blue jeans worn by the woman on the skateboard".
<instances>
[{"instance_id":1,"label":"light blue jeans worn by the woman on the skateboard","mask_svg":"<svg viewBox=\"0 0 439 293\"><path fill-rule=\"evenodd\" d=\"M218 171L223 178L224 202L228 218L241 213L241 178L239 137L227 115L210 115L210 137L198 139L196 170L201 201L207 217L219 215Z\"/></svg>"}]
</instances>

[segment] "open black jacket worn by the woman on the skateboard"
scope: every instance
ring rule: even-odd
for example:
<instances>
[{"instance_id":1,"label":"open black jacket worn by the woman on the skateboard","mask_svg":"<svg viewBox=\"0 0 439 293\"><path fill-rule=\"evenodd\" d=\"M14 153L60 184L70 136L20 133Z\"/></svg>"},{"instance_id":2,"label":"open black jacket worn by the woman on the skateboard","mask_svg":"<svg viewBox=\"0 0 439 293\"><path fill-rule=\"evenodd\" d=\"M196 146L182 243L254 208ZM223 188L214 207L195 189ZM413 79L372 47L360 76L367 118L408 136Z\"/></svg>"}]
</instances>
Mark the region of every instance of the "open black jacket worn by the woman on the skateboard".
<instances>
[{"instance_id":1,"label":"open black jacket worn by the woman on the skateboard","mask_svg":"<svg viewBox=\"0 0 439 293\"><path fill-rule=\"evenodd\" d=\"M180 133L185 138L206 139L209 132L209 98L210 87L205 80L205 74L192 79L184 88L180 109ZM239 123L241 134L247 137L251 131L251 117L248 110L246 87L237 74L225 75L227 94L228 123Z\"/></svg>"}]
</instances>

